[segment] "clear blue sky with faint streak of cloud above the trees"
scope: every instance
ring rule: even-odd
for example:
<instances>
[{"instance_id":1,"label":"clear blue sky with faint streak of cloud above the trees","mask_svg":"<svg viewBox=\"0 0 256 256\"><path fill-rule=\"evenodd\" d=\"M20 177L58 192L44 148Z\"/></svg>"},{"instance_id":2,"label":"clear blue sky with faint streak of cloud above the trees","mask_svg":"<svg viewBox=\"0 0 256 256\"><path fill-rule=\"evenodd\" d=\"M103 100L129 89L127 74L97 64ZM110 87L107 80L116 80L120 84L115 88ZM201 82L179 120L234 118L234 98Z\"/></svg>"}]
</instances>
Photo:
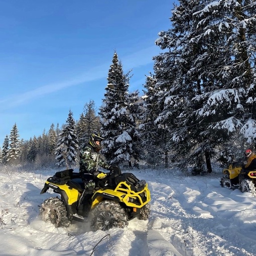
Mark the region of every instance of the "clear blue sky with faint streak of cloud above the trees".
<instances>
[{"instance_id":1,"label":"clear blue sky with faint streak of cloud above the trees","mask_svg":"<svg viewBox=\"0 0 256 256\"><path fill-rule=\"evenodd\" d=\"M171 26L168 0L0 0L0 147L16 123L20 139L76 120L101 105L114 51L130 91L153 71L158 33Z\"/></svg>"}]
</instances>

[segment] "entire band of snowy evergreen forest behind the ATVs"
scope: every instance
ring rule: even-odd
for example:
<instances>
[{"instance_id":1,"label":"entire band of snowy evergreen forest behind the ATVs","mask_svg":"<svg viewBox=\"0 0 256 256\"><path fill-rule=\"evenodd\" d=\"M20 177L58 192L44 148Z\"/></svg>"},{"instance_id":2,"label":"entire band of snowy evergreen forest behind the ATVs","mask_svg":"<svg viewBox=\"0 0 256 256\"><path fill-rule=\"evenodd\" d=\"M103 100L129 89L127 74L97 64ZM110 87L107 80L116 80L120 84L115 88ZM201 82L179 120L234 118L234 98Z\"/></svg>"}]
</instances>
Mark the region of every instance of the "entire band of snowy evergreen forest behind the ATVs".
<instances>
[{"instance_id":1,"label":"entire band of snowy evergreen forest behind the ATVs","mask_svg":"<svg viewBox=\"0 0 256 256\"><path fill-rule=\"evenodd\" d=\"M152 57L143 95L129 91L132 74L114 52L98 112L92 99L79 120L70 109L66 123L29 141L14 120L1 165L77 166L92 132L105 138L105 159L121 166L175 165L202 174L241 158L256 145L255 10L251 0L180 0L170 29L158 34L161 53Z\"/></svg>"}]
</instances>

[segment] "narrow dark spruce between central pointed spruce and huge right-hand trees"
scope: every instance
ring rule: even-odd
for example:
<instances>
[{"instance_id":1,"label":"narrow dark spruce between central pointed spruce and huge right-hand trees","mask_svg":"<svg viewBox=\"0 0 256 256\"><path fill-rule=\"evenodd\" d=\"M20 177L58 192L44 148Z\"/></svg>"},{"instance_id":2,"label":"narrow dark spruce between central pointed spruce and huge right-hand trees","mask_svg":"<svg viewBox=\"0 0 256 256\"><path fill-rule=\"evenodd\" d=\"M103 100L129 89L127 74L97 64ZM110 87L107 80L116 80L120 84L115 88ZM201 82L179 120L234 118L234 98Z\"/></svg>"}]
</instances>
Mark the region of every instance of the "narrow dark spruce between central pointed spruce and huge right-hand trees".
<instances>
[{"instance_id":1,"label":"narrow dark spruce between central pointed spruce and huge right-hand trees","mask_svg":"<svg viewBox=\"0 0 256 256\"><path fill-rule=\"evenodd\" d=\"M140 111L140 124L139 133L144 148L144 158L146 162L155 167L158 164L164 162L163 144L161 143L161 132L158 129L155 120L161 112L158 106L158 87L156 85L156 79L153 74L146 76L146 83L144 85L145 90L142 96L142 109Z\"/></svg>"}]
</instances>

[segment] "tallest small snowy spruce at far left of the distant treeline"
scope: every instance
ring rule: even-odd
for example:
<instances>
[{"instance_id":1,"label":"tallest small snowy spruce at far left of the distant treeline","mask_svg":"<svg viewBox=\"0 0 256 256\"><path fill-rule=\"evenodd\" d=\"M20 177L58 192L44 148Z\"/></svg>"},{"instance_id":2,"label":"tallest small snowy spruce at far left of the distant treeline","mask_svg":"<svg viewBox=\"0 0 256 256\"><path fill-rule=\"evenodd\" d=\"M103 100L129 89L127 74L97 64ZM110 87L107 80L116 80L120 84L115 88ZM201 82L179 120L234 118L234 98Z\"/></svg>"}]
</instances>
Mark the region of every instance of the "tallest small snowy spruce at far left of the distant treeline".
<instances>
[{"instance_id":1,"label":"tallest small snowy spruce at far left of the distant treeline","mask_svg":"<svg viewBox=\"0 0 256 256\"><path fill-rule=\"evenodd\" d=\"M17 128L16 123L13 126L13 129L10 133L10 139L9 139L9 163L10 164L18 164L19 163L19 157L21 154L21 141L19 140L19 131Z\"/></svg>"}]
</instances>

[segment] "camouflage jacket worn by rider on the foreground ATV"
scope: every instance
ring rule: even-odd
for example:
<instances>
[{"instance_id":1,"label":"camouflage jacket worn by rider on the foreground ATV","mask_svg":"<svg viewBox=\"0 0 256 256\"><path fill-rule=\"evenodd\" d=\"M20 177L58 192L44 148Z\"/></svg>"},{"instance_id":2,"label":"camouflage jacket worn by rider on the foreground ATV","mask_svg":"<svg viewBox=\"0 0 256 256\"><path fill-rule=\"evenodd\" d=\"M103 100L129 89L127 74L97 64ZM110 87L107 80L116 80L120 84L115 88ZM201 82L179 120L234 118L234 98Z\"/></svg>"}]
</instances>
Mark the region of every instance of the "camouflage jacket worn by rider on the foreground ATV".
<instances>
[{"instance_id":1,"label":"camouflage jacket worn by rider on the foreground ATV","mask_svg":"<svg viewBox=\"0 0 256 256\"><path fill-rule=\"evenodd\" d=\"M80 151L79 172L91 173L97 171L98 166L109 170L110 165L106 164L95 149L87 144Z\"/></svg>"}]
</instances>

